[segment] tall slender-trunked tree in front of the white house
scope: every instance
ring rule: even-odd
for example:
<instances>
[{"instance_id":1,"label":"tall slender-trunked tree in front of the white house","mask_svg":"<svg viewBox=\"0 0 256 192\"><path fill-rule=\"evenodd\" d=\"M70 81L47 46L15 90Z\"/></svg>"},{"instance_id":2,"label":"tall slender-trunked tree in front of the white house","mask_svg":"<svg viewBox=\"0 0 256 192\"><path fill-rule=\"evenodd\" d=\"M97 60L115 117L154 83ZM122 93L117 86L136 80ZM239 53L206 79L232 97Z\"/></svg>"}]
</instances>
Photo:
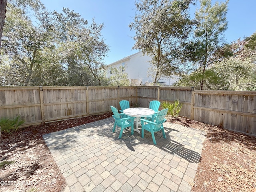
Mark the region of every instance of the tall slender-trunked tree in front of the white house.
<instances>
[{"instance_id":1,"label":"tall slender-trunked tree in front of the white house","mask_svg":"<svg viewBox=\"0 0 256 192\"><path fill-rule=\"evenodd\" d=\"M149 75L156 82L167 71L168 75L178 69L176 56L180 42L188 37L192 22L188 8L192 0L140 0L136 2L134 22L129 24L136 32L134 49L151 56Z\"/></svg>"}]
</instances>

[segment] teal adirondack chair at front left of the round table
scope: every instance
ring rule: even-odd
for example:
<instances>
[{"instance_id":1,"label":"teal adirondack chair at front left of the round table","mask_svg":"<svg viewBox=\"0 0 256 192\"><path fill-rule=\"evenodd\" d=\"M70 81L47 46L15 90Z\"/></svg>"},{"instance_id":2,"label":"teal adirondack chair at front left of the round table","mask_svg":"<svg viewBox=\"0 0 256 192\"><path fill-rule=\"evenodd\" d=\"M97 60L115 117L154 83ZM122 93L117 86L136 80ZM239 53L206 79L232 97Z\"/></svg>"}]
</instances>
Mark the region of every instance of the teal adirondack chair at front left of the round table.
<instances>
[{"instance_id":1,"label":"teal adirondack chair at front left of the round table","mask_svg":"<svg viewBox=\"0 0 256 192\"><path fill-rule=\"evenodd\" d=\"M110 108L111 108L111 110L112 110L112 112L114 114L112 116L115 119L115 124L114 124L114 127L113 127L113 132L115 132L116 126L121 127L120 134L119 134L119 139L120 139L122 137L124 128L131 127L132 135L133 135L133 122L134 122L134 118L135 117L123 118L124 114L123 113L118 113L117 108L115 108L113 106L110 106Z\"/></svg>"}]
</instances>

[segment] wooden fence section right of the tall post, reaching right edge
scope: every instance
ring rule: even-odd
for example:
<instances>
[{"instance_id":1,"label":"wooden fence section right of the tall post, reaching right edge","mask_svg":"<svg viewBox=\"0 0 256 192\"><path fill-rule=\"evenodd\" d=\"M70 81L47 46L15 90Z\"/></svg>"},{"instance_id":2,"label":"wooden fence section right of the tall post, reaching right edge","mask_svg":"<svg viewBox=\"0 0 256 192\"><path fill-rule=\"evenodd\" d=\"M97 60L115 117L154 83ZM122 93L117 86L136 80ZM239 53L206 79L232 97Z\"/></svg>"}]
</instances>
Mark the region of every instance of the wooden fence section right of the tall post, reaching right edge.
<instances>
[{"instance_id":1,"label":"wooden fence section right of the tall post, reaching right edge","mask_svg":"<svg viewBox=\"0 0 256 192\"><path fill-rule=\"evenodd\" d=\"M194 91L191 118L256 135L255 91Z\"/></svg>"}]
</instances>

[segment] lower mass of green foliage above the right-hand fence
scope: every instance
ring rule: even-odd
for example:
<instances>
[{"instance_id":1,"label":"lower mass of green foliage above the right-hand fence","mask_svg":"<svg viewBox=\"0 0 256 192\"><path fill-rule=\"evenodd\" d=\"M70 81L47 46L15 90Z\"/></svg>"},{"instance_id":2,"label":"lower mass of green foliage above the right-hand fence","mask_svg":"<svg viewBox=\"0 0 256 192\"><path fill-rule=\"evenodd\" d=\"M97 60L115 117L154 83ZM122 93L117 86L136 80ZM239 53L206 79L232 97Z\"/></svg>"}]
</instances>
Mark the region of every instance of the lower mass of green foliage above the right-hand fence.
<instances>
[{"instance_id":1,"label":"lower mass of green foliage above the right-hand fence","mask_svg":"<svg viewBox=\"0 0 256 192\"><path fill-rule=\"evenodd\" d=\"M204 74L199 70L184 74L176 85L195 86L199 90L204 79L204 90L256 90L256 49L248 46L249 42L253 44L253 38L224 45L215 53L216 62Z\"/></svg>"}]
</instances>

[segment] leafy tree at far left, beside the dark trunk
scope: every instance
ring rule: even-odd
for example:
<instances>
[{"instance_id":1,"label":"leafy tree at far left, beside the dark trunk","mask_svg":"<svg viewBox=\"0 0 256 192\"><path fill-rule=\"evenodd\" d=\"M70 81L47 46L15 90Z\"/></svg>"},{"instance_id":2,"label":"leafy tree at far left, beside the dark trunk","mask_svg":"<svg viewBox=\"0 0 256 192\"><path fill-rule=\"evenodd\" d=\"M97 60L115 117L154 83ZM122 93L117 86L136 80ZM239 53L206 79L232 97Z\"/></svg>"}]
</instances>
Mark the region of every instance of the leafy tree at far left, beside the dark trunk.
<instances>
[{"instance_id":1,"label":"leafy tree at far left, beside the dark trunk","mask_svg":"<svg viewBox=\"0 0 256 192\"><path fill-rule=\"evenodd\" d=\"M38 66L43 62L43 49L52 46L52 26L44 5L29 1L30 12L38 21L35 26L22 6L8 4L2 38L3 53L8 56L11 77L8 84L30 85ZM4 65L4 64L2 64ZM7 77L8 78L8 77Z\"/></svg>"}]
</instances>

